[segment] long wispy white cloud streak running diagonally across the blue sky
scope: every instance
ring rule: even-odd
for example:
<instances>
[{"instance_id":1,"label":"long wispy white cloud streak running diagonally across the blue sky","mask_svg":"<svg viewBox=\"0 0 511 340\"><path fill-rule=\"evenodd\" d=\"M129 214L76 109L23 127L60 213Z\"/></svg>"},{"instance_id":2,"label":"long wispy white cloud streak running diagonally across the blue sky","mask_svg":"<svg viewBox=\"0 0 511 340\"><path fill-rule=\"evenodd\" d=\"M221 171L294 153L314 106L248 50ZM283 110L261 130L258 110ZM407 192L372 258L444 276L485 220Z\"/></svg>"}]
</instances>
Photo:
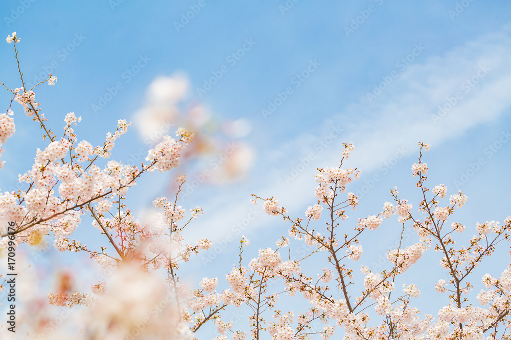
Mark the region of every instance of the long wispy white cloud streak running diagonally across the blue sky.
<instances>
[{"instance_id":1,"label":"long wispy white cloud streak running diagonally across the blue sky","mask_svg":"<svg viewBox=\"0 0 511 340\"><path fill-rule=\"evenodd\" d=\"M364 93L359 102L350 104L334 118L342 127L343 117L359 117L356 124L343 127L344 135L335 139L332 147L322 153L315 151L315 163L308 166L292 186L285 183L283 176L268 178L258 194L274 195L297 216L296 208L314 201L313 192L304 192L304 188L310 188L315 168L338 164L342 142L353 141L356 145L349 164L369 172L391 158L399 148L404 147L409 152L418 150L419 141L439 147L467 129L498 119L511 107L509 55L511 38L506 32L497 32L453 48L444 56L432 56L422 64L410 65L372 103ZM458 98L454 103L454 99L449 98L456 98L456 93ZM451 107L449 100L453 103ZM444 108L445 114L442 111L438 114L438 106ZM323 135L312 139L310 134L297 136L271 152L285 154L281 151L298 149L301 150L298 154L307 155L314 151L311 140L314 143L329 132L324 129ZM275 172L283 175L286 170L281 167ZM216 239L224 237L231 226L249 213L249 195L238 188L228 192L222 189L221 195L205 204L210 210L207 222L195 232L204 232ZM259 224L256 221L253 225ZM212 229L212 225L216 227Z\"/></svg>"}]
</instances>

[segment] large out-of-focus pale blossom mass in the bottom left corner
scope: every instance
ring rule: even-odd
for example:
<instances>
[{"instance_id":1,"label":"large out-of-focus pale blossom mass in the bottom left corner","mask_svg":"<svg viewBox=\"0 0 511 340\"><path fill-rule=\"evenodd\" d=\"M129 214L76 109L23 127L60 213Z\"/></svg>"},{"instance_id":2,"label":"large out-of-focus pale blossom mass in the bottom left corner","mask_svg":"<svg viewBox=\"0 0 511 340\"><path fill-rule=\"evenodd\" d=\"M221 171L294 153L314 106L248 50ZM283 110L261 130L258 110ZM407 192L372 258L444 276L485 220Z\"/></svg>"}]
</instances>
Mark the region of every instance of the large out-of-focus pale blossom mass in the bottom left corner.
<instances>
[{"instance_id":1,"label":"large out-of-focus pale blossom mass in the bottom left corner","mask_svg":"<svg viewBox=\"0 0 511 340\"><path fill-rule=\"evenodd\" d=\"M165 280L155 272L144 272L138 264L125 264L109 272L108 286L96 282L100 295L87 306L72 308L48 304L48 291L65 294L74 290L76 273L54 273L54 284L47 287L43 279L49 268L28 267L24 252L16 254L20 270L17 280L16 332L30 339L52 340L119 340L190 339L187 324L177 323L175 301ZM41 264L39 264L40 266ZM0 266L4 267L4 266ZM5 272L4 268L2 270ZM37 283L37 284L36 284ZM94 287L92 289L94 291ZM87 290L88 292L88 290ZM88 295L88 294L87 294ZM91 300L89 302L92 302ZM7 303L7 300L5 300ZM0 339L12 338L5 327ZM17 338L17 337L14 337Z\"/></svg>"}]
</instances>

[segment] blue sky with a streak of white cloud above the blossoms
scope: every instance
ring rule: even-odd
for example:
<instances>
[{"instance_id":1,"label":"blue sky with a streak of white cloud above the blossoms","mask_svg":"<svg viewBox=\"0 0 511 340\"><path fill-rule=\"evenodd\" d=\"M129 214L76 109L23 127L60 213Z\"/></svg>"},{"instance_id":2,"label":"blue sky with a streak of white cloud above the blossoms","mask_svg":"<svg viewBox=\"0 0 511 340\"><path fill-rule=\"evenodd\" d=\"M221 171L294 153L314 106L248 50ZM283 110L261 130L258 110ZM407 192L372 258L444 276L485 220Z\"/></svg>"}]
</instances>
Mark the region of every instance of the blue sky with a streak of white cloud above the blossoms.
<instances>
[{"instance_id":1,"label":"blue sky with a streak of white cloud above the blossoms","mask_svg":"<svg viewBox=\"0 0 511 340\"><path fill-rule=\"evenodd\" d=\"M349 166L362 169L363 175L347 190L366 192L359 195L360 208L347 220L349 227L358 217L380 212L394 186L418 205L410 166L416 162L419 141L432 144L426 153L429 185L442 183L449 194L461 189L469 196L459 215L468 228L475 230L476 222L503 221L509 214L511 4L481 0L350 4L289 0L290 8L283 7L284 0L200 4L4 1L0 27L4 36L16 31L21 38L20 65L28 82L49 67L58 76L55 87L43 85L36 91L55 130L61 128L64 115L74 111L83 119L76 129L79 139L100 143L119 118L134 121L135 113L146 106L146 89L156 77L176 72L189 82L182 107L200 103L218 122L241 119L249 124L248 135L234 138L253 154L244 179L203 184L182 202L186 208L198 204L205 212L190 237L205 233L220 242L229 234L238 236L233 226L250 214L251 193L275 196L292 216L303 217L315 200L315 168L336 165L342 142L351 141L356 149ZM193 9L197 12L193 18L181 21ZM243 56L234 63L229 56L244 45ZM20 86L12 45L1 46L0 80ZM144 66L127 76L125 72L137 63ZM227 71L210 90L197 91L222 67ZM308 67L314 71L297 83L297 74ZM122 88L95 109L117 83ZM381 93L375 91L378 86ZM279 93L282 98L288 88L282 104L265 115L268 101L275 102ZM0 107L5 110L9 93L3 93ZM375 97L369 100L368 93ZM439 114L439 106L446 111ZM32 164L34 145L43 145L37 126L21 107L15 104L13 110L17 132L4 146L3 191L11 190L17 174ZM133 150L148 147L135 125L117 143L114 159L126 161ZM338 130L342 132L327 147L317 147ZM292 181L286 180L310 153L312 163ZM187 174L200 173L215 155L194 160ZM474 168L477 171L471 171ZM143 214L151 200L168 195L165 188L177 173L143 178L132 190L133 210ZM375 175L378 180L371 184ZM243 233L253 240L251 251L256 254L259 247L274 246L268 240L286 234L285 228L280 219L260 213ZM387 221L368 237L361 262L370 263L393 244L396 228L400 230L396 221ZM87 233L83 237L93 239ZM236 253L231 246L233 251L222 252L213 266L204 269L208 275L230 270L230 264L219 258L228 263ZM433 265L427 268L436 268L432 258ZM505 267L506 258L496 272ZM192 264L201 266L201 260Z\"/></svg>"}]
</instances>

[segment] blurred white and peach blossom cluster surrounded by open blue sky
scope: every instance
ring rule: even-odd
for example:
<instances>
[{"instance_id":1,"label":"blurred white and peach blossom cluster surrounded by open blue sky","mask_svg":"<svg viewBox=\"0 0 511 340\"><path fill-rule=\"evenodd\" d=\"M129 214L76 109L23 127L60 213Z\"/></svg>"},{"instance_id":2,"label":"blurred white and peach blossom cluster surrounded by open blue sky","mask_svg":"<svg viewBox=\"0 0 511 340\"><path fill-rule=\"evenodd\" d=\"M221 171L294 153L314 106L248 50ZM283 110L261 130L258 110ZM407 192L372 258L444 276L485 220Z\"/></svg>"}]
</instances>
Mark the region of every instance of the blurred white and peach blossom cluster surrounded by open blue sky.
<instances>
[{"instance_id":1,"label":"blurred white and peach blossom cluster surrounded by open blue sky","mask_svg":"<svg viewBox=\"0 0 511 340\"><path fill-rule=\"evenodd\" d=\"M238 141L234 144L233 140L248 136L251 122L247 119L219 120L202 103L187 102L189 88L188 76L182 73L159 76L149 84L146 103L133 117L144 144L154 145L175 126L185 126L194 131L195 140L182 152L182 172L191 174L185 167L193 165L187 161L205 158L207 170L211 171L206 179L209 184L242 180L252 167L254 151ZM200 166L195 169L199 173L203 170ZM173 186L169 188L171 191Z\"/></svg>"}]
</instances>

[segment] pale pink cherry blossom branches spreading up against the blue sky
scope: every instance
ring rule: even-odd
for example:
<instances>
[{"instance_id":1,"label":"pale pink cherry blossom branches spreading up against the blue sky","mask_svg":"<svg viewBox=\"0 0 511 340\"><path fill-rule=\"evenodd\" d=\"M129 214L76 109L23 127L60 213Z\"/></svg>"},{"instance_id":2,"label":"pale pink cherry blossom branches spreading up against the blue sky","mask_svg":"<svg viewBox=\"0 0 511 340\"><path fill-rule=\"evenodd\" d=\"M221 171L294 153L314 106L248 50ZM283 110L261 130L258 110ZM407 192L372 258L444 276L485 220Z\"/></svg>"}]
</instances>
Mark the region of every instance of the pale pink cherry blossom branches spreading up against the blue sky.
<instances>
[{"instance_id":1,"label":"pale pink cherry blossom branches spreading up against the blue sky","mask_svg":"<svg viewBox=\"0 0 511 340\"><path fill-rule=\"evenodd\" d=\"M6 40L14 42L19 62L16 44L20 40L16 32ZM149 219L137 219L127 206L127 195L141 176L177 168L181 155L194 141L194 132L180 127L176 138L165 136L149 149L140 166L123 164L111 158L115 143L130 127L128 121L119 119L114 130L106 132L104 141L93 145L75 134L73 126L81 122L81 117L70 112L64 117L63 133L57 135L49 128L43 107L35 101L37 85L26 90L22 72L19 73L23 86L6 88L41 128L43 143L29 151L32 166L18 175L24 189L0 193L0 216L14 224L12 235L3 230L0 250L5 253L20 246L37 247L50 239L59 252L85 254L94 268L109 271L105 277L91 281L94 284L87 284L87 292L75 290L66 275L56 275L57 290L45 299L51 305L82 306L86 310L76 334L81 332L87 338L125 338L130 334L138 339L191 339L208 324L210 329L216 329L210 337L234 340L268 336L275 340L327 339L336 328L344 339L350 340L509 337L506 332L511 325L511 265L500 276L486 273L481 279L475 269L484 269L479 266L491 263L487 257L494 254L497 245L509 241L511 217L502 224L496 220L475 222L475 228L469 230L475 229L477 234L471 237L471 232L466 238L458 238L458 233L467 228L453 221L453 215L468 198L458 191L450 196L450 205L445 205L440 200L447 197L446 186L437 185L429 192L426 175L434 169L430 170L423 160L423 151L430 149L429 144L419 143L419 159L411 173L412 177L419 177L419 201L413 200L413 204L419 207L421 218L412 210L412 200L402 198L394 187L388 199L392 202L382 198L378 203L383 203L382 212L365 218L357 216L357 222L350 223L346 211L356 210L359 201L353 192L346 191L361 172L344 166L355 146L343 143L340 164L317 169L317 187L309 193L310 205L305 212L296 213L301 217L291 217L295 212L288 212L284 199L281 203L275 197L252 195L252 203L262 200L265 213L282 218L287 225L282 229L287 236L270 240L269 245L274 243L276 248L265 245L257 252L243 235L237 239L239 243L235 242L239 252L228 263L230 272L215 277L197 275L197 282L193 282L180 278L182 267L195 272L191 258L202 255L206 259L204 255L213 241L190 232L190 224L208 212L181 200L186 176L172 174L176 178L172 183L175 192L153 199L157 212ZM57 77L49 74L46 81L54 85ZM10 107L0 114L2 145L16 132L11 116ZM19 128L21 118L16 119ZM388 225L384 218L390 220L385 222ZM98 235L97 242L89 247L76 232L88 220ZM405 238L406 225L416 231L412 240ZM367 250L372 246L366 235L386 227L399 241L387 251L388 261L379 271L365 265L354 271L351 266L362 258L363 247ZM191 234L194 237L189 240ZM226 238L232 239L232 234ZM435 317L422 315L415 307L415 301L426 295L421 294L416 282L396 289L407 277L406 272L427 251L432 251L430 248L439 253L440 268L431 272L436 283L429 288L446 293ZM257 257L246 258L250 252L257 252ZM6 289L6 282L5 276L0 275L0 290ZM419 283L426 292L426 283ZM289 299L302 303L296 303L294 311L282 309L288 306ZM157 313L149 319L155 306ZM250 310L245 319L250 330L237 329L228 320L226 311L235 308ZM34 320L34 324L39 322ZM133 332L135 328L137 334Z\"/></svg>"}]
</instances>

